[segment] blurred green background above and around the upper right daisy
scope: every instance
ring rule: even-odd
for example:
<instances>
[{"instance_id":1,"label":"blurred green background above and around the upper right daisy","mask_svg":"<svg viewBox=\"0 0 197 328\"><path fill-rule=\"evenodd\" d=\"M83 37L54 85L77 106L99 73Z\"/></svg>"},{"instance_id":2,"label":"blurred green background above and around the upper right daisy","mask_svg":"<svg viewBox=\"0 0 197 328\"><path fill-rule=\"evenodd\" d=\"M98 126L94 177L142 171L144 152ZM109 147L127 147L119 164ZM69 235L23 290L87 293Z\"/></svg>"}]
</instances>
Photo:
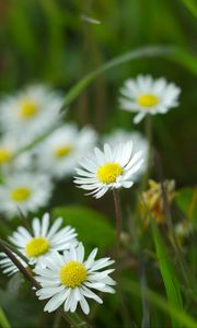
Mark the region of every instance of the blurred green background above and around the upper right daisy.
<instances>
[{"instance_id":1,"label":"blurred green background above and around the upper right daisy","mask_svg":"<svg viewBox=\"0 0 197 328\"><path fill-rule=\"evenodd\" d=\"M174 81L182 87L181 105L154 117L154 144L164 176L175 178L178 186L193 185L197 180L195 15L192 0L1 0L1 93L31 82L47 82L67 93L88 72L123 52L150 44L182 47L193 54L193 63L143 58L108 70L70 106L68 117L80 125L91 122L100 131L143 130L143 122L134 127L131 115L118 109L119 86L138 73Z\"/></svg>"}]
</instances>

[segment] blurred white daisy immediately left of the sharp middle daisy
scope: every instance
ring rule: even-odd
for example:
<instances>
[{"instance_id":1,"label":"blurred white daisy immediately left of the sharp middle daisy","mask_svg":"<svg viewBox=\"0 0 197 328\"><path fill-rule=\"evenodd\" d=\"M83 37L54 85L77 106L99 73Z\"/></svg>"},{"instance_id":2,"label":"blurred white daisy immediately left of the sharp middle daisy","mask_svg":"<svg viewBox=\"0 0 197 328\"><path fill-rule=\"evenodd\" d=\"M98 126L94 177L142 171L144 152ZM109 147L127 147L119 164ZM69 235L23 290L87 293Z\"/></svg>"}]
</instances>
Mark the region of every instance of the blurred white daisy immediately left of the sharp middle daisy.
<instances>
[{"instance_id":1,"label":"blurred white daisy immediately left of the sharp middle daisy","mask_svg":"<svg viewBox=\"0 0 197 328\"><path fill-rule=\"evenodd\" d=\"M80 159L93 148L96 133L84 127L81 131L73 124L57 129L37 149L37 166L54 177L71 175Z\"/></svg>"}]
</instances>

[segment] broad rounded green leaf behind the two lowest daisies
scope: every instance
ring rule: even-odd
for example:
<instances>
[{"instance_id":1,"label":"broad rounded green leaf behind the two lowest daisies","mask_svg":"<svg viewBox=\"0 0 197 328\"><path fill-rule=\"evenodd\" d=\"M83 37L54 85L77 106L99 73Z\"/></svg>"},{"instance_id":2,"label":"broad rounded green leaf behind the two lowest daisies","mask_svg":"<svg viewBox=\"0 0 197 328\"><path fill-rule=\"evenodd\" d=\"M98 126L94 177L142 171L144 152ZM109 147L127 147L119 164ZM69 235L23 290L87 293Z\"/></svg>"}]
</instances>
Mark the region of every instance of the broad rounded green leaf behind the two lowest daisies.
<instances>
[{"instance_id":1,"label":"broad rounded green leaf behind the two lowest daisies","mask_svg":"<svg viewBox=\"0 0 197 328\"><path fill-rule=\"evenodd\" d=\"M107 218L95 210L69 206L56 208L53 216L62 216L65 224L76 227L78 238L90 247L96 246L104 250L114 242L115 233Z\"/></svg>"}]
</instances>

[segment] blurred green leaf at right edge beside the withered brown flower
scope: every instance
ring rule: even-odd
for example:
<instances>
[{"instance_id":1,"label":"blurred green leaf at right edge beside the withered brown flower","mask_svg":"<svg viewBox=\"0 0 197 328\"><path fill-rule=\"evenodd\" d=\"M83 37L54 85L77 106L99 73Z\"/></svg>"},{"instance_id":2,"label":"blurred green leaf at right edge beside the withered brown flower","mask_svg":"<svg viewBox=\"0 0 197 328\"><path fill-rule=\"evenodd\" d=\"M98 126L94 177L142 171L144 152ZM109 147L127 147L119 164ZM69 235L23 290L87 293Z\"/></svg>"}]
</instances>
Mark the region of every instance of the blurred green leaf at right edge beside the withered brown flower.
<instances>
[{"instance_id":1,"label":"blurred green leaf at right edge beside the withered brown flower","mask_svg":"<svg viewBox=\"0 0 197 328\"><path fill-rule=\"evenodd\" d=\"M183 188L178 190L175 202L186 219L190 221L197 220L197 188Z\"/></svg>"}]
</instances>

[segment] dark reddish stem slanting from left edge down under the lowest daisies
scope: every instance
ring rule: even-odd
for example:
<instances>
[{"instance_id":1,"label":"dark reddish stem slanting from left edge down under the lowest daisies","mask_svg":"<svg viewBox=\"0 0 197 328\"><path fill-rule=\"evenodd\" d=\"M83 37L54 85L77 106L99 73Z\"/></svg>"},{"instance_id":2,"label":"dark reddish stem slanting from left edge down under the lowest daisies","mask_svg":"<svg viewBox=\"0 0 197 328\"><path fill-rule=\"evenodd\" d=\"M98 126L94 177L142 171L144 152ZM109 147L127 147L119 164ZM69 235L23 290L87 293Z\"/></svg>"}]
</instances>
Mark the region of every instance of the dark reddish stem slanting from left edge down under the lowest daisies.
<instances>
[{"instance_id":1,"label":"dark reddish stem slanting from left edge down under the lowest daisies","mask_svg":"<svg viewBox=\"0 0 197 328\"><path fill-rule=\"evenodd\" d=\"M42 288L42 285L32 276L31 271L27 270L25 267L23 267L23 265L18 260L15 255L1 239L0 239L0 249L11 259L11 261L18 267L18 269L23 273L23 276L33 284L33 286L36 288L36 290L39 290ZM65 320L70 325L70 327L78 328L79 326L82 325L83 327L88 327L86 323L82 320L79 316L78 316L78 320L80 319L80 323L77 323L76 319L73 319L70 315L65 313L62 309L59 309L58 313L61 315L62 318L65 318Z\"/></svg>"}]
</instances>

